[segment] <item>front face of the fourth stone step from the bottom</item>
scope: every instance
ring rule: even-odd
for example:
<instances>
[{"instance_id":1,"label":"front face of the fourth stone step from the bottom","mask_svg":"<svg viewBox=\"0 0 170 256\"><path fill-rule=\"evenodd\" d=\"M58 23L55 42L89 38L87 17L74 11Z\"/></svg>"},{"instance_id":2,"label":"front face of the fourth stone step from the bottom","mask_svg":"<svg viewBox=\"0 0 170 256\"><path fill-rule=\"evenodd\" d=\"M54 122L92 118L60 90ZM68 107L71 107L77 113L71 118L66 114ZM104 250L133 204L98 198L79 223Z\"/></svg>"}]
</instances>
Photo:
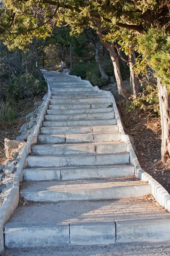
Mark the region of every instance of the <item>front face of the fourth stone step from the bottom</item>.
<instances>
[{"instance_id":1,"label":"front face of the fourth stone step from the bottom","mask_svg":"<svg viewBox=\"0 0 170 256\"><path fill-rule=\"evenodd\" d=\"M27 168L129 164L129 153L28 156Z\"/></svg>"}]
</instances>

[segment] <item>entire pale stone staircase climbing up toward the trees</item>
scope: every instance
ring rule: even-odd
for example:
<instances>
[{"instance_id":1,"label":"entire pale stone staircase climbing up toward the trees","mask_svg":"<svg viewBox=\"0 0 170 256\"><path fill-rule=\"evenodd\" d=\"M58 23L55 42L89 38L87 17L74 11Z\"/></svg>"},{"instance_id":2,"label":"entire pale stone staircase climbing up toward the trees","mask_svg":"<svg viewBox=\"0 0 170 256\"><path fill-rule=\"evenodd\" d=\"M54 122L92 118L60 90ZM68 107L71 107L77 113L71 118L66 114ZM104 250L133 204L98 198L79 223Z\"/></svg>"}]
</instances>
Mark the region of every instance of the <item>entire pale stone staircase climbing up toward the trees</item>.
<instances>
[{"instance_id":1,"label":"entire pale stone staircase climbing up toward the trees","mask_svg":"<svg viewBox=\"0 0 170 256\"><path fill-rule=\"evenodd\" d=\"M44 76L48 98L0 209L0 250L169 240L169 212L140 197L152 192L170 211L170 195L141 169L113 95L68 73ZM30 202L17 207L23 178Z\"/></svg>"}]
</instances>

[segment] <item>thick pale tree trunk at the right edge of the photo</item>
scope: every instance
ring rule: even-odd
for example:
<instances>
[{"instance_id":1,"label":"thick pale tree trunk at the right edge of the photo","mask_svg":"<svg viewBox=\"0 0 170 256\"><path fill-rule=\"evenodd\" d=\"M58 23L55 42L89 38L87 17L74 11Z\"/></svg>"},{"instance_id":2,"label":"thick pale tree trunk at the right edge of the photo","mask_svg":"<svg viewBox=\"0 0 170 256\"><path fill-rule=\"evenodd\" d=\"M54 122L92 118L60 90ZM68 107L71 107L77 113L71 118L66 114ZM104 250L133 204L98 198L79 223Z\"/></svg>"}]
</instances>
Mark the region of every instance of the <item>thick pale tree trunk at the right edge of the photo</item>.
<instances>
[{"instance_id":1,"label":"thick pale tree trunk at the right edge of the photo","mask_svg":"<svg viewBox=\"0 0 170 256\"><path fill-rule=\"evenodd\" d=\"M161 113L161 160L163 163L170 162L170 93L167 87L161 84L158 78L159 106Z\"/></svg>"}]
</instances>

